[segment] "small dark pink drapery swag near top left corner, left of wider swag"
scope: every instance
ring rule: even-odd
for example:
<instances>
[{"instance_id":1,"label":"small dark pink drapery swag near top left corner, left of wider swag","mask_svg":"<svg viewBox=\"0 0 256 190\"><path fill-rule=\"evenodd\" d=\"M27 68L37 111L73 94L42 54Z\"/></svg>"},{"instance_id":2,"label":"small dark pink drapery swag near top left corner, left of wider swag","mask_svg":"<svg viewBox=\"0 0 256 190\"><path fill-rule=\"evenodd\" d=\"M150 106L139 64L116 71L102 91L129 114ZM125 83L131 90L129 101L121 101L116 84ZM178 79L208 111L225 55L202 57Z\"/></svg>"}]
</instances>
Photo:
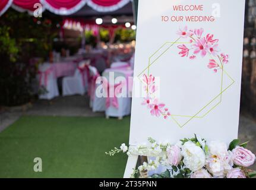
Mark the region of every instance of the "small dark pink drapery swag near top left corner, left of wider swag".
<instances>
[{"instance_id":1,"label":"small dark pink drapery swag near top left corner, left of wider swag","mask_svg":"<svg viewBox=\"0 0 256 190\"><path fill-rule=\"evenodd\" d=\"M37 9L37 4L39 0L13 0L11 7L19 12L29 12L30 15L33 15L33 12ZM42 11L43 11L42 7Z\"/></svg>"}]
</instances>

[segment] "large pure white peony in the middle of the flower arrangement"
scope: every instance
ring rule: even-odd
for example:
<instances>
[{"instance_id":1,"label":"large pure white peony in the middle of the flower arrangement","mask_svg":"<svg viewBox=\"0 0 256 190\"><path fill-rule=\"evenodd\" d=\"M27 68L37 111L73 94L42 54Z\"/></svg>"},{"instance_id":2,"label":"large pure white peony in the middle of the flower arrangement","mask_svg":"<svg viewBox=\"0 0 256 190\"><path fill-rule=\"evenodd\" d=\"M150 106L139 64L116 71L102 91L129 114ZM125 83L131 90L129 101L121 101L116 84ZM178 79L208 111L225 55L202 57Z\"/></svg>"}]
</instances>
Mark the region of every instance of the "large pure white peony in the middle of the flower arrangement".
<instances>
[{"instance_id":1,"label":"large pure white peony in the middle of the flower arrangement","mask_svg":"<svg viewBox=\"0 0 256 190\"><path fill-rule=\"evenodd\" d=\"M206 164L206 154L202 148L191 141L188 141L182 146L181 154L184 157L183 162L185 166L192 172L200 170Z\"/></svg>"}]
</instances>

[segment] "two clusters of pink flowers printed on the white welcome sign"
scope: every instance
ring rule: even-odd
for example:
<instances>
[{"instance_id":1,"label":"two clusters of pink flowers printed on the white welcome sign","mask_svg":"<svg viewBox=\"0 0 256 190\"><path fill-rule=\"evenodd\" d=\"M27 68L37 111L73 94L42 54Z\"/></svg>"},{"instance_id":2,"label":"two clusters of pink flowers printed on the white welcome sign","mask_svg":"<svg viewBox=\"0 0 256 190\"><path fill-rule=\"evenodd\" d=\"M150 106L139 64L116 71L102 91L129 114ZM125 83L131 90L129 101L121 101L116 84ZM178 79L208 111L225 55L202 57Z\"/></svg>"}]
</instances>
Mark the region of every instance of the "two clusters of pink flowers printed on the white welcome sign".
<instances>
[{"instance_id":1,"label":"two clusters of pink flowers printed on the white welcome sign","mask_svg":"<svg viewBox=\"0 0 256 190\"><path fill-rule=\"evenodd\" d=\"M210 33L204 36L203 28L189 30L188 27L185 26L184 29L180 28L176 34L179 36L179 39L188 40L188 42L182 42L181 45L177 46L178 49L181 50L179 55L182 58L189 57L190 60L193 60L197 59L198 55L202 58L208 55L210 59L207 68L213 69L214 72L223 70L224 64L229 63L229 55L220 53L219 39L214 39L214 35ZM147 95L144 97L141 105L146 106L152 116L158 118L162 117L164 119L168 119L172 116L165 103L157 99L156 93L159 90L159 86L156 84L154 75L144 74L143 77L141 77L141 81L143 82L143 89Z\"/></svg>"}]
</instances>

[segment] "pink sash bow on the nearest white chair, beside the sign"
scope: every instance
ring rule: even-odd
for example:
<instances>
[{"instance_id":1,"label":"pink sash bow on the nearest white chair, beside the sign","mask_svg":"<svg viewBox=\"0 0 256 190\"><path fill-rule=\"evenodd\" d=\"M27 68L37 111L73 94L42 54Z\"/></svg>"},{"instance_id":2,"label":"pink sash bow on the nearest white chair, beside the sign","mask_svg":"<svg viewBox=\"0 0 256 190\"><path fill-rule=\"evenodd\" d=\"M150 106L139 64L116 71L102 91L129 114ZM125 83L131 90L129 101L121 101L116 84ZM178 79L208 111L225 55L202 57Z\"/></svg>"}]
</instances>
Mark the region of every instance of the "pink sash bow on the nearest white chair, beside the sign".
<instances>
[{"instance_id":1,"label":"pink sash bow on the nearest white chair, beside the sign","mask_svg":"<svg viewBox=\"0 0 256 190\"><path fill-rule=\"evenodd\" d=\"M126 83L121 82L119 84L115 84L115 85L110 85L108 83L108 81L105 81L105 83L103 83L103 88L106 90L107 93L107 97L106 97L106 108L109 108L110 106L115 107L116 109L119 108L119 104L118 104L118 98L116 97L116 95L120 94L121 91L119 90L118 92L116 92L116 88L119 87L120 89L122 89L122 87L124 87ZM114 96L110 97L110 90L114 91Z\"/></svg>"}]
</instances>

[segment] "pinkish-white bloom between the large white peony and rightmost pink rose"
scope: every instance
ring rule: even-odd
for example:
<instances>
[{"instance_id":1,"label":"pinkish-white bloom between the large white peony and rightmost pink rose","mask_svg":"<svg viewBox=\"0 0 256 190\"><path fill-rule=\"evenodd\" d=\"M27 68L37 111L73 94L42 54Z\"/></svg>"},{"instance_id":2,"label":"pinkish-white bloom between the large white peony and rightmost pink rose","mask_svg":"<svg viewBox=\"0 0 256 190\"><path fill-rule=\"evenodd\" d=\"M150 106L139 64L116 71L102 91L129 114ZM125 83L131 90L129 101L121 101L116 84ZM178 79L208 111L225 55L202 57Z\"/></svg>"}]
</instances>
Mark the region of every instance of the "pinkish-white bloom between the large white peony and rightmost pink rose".
<instances>
[{"instance_id":1,"label":"pinkish-white bloom between the large white peony and rightmost pink rose","mask_svg":"<svg viewBox=\"0 0 256 190\"><path fill-rule=\"evenodd\" d=\"M206 167L214 177L226 176L232 169L232 152L227 151L227 145L219 141L212 141L208 144L209 151L207 155Z\"/></svg>"}]
</instances>

